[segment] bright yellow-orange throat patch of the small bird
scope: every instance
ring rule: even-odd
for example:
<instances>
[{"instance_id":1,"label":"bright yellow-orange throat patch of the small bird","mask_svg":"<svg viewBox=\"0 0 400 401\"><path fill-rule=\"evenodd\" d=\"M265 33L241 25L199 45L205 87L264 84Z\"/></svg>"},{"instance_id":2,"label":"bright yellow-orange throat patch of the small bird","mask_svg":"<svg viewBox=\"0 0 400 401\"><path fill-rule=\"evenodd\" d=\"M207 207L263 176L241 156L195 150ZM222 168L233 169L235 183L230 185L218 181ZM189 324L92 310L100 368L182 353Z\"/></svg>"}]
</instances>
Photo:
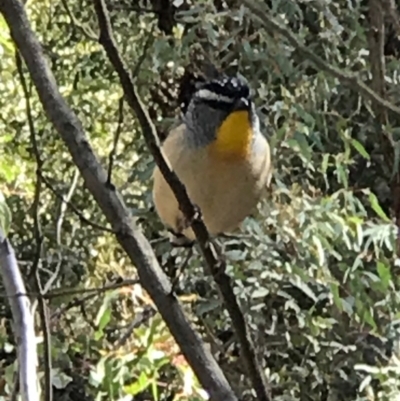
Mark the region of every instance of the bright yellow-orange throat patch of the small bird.
<instances>
[{"instance_id":1,"label":"bright yellow-orange throat patch of the small bird","mask_svg":"<svg viewBox=\"0 0 400 401\"><path fill-rule=\"evenodd\" d=\"M234 111L221 124L217 137L209 145L212 154L222 159L244 159L250 151L253 128L246 110Z\"/></svg>"}]
</instances>

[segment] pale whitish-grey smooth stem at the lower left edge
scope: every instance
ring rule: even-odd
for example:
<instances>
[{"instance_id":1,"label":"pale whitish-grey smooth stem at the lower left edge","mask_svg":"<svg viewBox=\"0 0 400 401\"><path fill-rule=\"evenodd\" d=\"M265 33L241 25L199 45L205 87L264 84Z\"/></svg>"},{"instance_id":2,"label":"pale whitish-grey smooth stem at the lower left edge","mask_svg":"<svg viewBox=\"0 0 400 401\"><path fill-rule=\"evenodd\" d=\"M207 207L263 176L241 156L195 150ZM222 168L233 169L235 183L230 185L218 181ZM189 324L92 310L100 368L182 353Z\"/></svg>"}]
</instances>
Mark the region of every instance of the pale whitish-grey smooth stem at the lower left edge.
<instances>
[{"instance_id":1,"label":"pale whitish-grey smooth stem at the lower left edge","mask_svg":"<svg viewBox=\"0 0 400 401\"><path fill-rule=\"evenodd\" d=\"M13 328L18 347L19 383L23 401L39 401L37 388L37 354L34 319L25 291L17 258L10 242L0 229L0 274L9 296Z\"/></svg>"}]
</instances>

